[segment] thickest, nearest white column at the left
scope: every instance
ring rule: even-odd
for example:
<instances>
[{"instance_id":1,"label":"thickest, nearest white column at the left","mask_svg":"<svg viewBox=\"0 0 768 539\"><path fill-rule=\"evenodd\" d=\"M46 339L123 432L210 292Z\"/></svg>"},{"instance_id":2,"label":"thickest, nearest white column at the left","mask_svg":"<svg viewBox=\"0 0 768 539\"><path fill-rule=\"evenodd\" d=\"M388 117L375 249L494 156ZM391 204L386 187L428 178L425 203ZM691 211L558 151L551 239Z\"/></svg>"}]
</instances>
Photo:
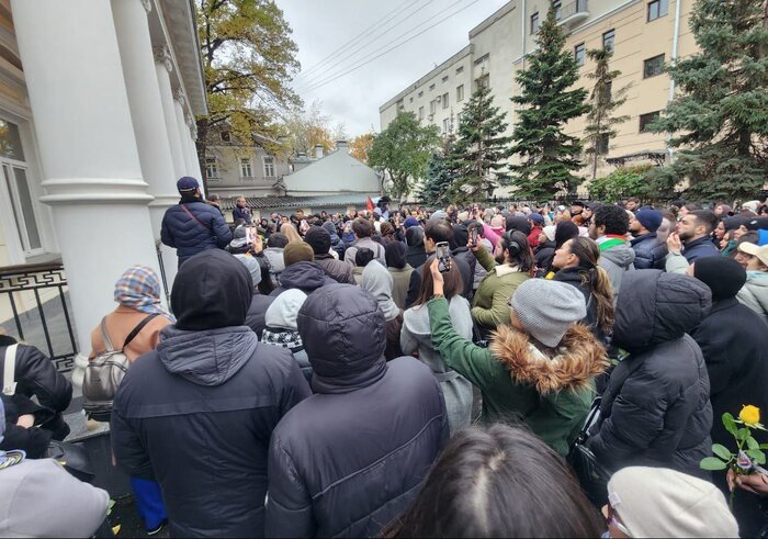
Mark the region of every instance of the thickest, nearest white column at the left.
<instances>
[{"instance_id":1,"label":"thickest, nearest white column at the left","mask_svg":"<svg viewBox=\"0 0 768 539\"><path fill-rule=\"evenodd\" d=\"M12 0L12 10L43 165L41 201L53 206L87 355L123 271L134 263L158 271L112 8Z\"/></svg>"}]
</instances>

